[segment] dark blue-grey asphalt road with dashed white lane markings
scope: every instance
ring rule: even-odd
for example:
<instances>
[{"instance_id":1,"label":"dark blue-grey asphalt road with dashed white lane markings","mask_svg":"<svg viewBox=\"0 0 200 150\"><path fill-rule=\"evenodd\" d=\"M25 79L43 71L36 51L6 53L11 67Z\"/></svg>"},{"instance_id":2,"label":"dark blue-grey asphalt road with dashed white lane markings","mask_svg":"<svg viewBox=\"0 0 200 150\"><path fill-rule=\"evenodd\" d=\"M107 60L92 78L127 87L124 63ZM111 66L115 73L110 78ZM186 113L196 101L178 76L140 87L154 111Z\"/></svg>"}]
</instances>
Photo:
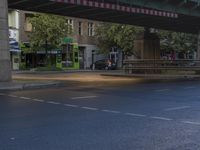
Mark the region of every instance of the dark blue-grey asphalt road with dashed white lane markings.
<instances>
[{"instance_id":1,"label":"dark blue-grey asphalt road with dashed white lane markings","mask_svg":"<svg viewBox=\"0 0 200 150\"><path fill-rule=\"evenodd\" d=\"M199 150L200 82L65 82L0 92L1 150Z\"/></svg>"}]
</instances>

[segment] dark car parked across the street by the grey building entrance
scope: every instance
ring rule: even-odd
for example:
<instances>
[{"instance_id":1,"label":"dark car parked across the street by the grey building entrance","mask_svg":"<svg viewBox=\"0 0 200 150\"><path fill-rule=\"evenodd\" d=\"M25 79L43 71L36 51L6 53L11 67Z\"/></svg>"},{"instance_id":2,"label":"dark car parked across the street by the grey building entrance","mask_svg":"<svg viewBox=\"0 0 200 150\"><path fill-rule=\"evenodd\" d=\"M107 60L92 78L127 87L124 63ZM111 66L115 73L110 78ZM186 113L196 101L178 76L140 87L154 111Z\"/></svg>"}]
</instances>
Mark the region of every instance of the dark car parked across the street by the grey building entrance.
<instances>
[{"instance_id":1,"label":"dark car parked across the street by the grey building entrance","mask_svg":"<svg viewBox=\"0 0 200 150\"><path fill-rule=\"evenodd\" d=\"M99 70L115 70L117 65L115 63L109 63L107 59L98 60L94 63L95 69ZM93 69L93 64L90 65L90 68Z\"/></svg>"}]
</instances>

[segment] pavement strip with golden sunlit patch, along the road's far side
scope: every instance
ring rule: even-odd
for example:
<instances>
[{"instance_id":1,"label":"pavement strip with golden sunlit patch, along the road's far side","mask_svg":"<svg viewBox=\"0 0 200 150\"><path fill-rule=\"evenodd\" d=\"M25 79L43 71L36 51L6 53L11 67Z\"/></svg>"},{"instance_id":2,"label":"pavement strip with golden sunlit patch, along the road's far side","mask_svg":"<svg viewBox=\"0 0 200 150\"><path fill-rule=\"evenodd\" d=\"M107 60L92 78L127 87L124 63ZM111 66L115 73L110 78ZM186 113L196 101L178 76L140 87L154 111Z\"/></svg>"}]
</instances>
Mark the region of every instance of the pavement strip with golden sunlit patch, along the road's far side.
<instances>
[{"instance_id":1,"label":"pavement strip with golden sunlit patch, along the road's far side","mask_svg":"<svg viewBox=\"0 0 200 150\"><path fill-rule=\"evenodd\" d=\"M23 90L70 84L131 84L141 81L199 80L200 75L125 74L123 71L13 73L13 82L0 82L1 90Z\"/></svg>"}]
</instances>

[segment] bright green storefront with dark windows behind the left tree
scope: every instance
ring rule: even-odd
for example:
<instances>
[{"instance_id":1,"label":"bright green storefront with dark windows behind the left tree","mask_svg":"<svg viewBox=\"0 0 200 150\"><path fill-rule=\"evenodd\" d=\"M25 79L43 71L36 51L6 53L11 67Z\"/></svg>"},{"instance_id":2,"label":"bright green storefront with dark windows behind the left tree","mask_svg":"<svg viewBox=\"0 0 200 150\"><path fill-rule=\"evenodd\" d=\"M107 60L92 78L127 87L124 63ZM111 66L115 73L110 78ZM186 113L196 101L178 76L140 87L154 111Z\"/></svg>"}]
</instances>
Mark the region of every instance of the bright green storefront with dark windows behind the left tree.
<instances>
[{"instance_id":1,"label":"bright green storefront with dark windows behind the left tree","mask_svg":"<svg viewBox=\"0 0 200 150\"><path fill-rule=\"evenodd\" d=\"M48 55L48 65L56 66L64 70L80 69L79 46L72 43L73 40L65 38L61 49L30 51L29 43L21 43L22 63L26 68L45 67L46 55Z\"/></svg>"}]
</instances>

